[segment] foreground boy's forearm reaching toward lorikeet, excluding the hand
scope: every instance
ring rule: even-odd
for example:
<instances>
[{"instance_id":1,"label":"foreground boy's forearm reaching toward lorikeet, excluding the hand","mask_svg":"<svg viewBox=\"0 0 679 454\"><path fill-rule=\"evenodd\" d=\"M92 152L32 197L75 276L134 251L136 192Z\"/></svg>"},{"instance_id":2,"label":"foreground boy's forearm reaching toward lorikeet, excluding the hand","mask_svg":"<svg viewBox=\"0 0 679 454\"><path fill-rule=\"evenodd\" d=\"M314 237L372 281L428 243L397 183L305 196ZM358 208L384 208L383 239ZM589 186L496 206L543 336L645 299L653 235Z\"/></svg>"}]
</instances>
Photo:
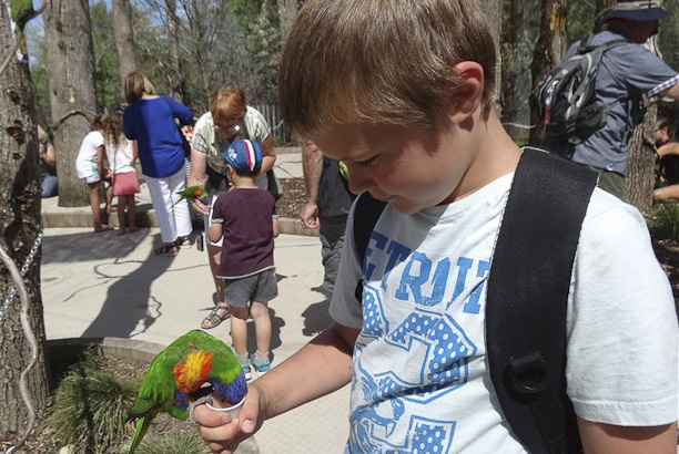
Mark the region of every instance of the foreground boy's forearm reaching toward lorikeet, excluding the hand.
<instances>
[{"instance_id":1,"label":"foreground boy's forearm reaching toward lorikeet, excluding the hand","mask_svg":"<svg viewBox=\"0 0 679 454\"><path fill-rule=\"evenodd\" d=\"M338 324L257 379L265 396L264 419L274 417L330 394L352 379L352 354L358 330Z\"/></svg>"}]
</instances>

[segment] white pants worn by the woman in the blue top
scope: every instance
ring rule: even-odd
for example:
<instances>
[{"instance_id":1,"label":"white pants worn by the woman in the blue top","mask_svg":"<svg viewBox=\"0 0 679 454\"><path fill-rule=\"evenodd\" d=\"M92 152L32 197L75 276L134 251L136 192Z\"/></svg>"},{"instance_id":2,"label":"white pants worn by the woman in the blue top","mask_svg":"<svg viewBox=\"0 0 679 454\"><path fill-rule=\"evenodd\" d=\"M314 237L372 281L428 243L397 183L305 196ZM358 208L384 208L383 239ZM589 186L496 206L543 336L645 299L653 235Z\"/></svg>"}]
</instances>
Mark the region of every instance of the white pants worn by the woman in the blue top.
<instances>
[{"instance_id":1,"label":"white pants worn by the woman in the blue top","mask_svg":"<svg viewBox=\"0 0 679 454\"><path fill-rule=\"evenodd\" d=\"M178 194L186 188L184 167L180 168L176 174L164 178L144 175L144 179L149 186L163 243L174 243L178 237L190 235L192 227L189 203L179 202L180 195Z\"/></svg>"}]
</instances>

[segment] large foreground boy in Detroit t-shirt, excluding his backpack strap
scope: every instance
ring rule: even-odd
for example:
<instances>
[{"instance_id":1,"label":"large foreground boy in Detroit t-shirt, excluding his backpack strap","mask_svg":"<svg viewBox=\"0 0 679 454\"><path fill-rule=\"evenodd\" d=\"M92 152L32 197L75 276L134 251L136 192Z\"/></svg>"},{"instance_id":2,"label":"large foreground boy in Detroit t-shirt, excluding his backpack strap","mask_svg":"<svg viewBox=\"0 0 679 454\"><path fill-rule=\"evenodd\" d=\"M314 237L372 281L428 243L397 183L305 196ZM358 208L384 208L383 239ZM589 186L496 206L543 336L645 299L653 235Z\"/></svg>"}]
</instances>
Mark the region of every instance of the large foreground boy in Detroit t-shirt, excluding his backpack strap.
<instances>
[{"instance_id":1,"label":"large foreground boy in Detroit t-shirt, excluding his backpack strap","mask_svg":"<svg viewBox=\"0 0 679 454\"><path fill-rule=\"evenodd\" d=\"M476 3L310 0L300 11L278 83L285 123L346 163L352 192L388 206L363 269L349 214L335 323L250 385L237 420L196 410L213 452L349 381L346 453L527 452L487 368L485 282L521 149L491 107L495 49ZM586 453L673 448L671 301L641 216L596 189L567 318Z\"/></svg>"}]
</instances>

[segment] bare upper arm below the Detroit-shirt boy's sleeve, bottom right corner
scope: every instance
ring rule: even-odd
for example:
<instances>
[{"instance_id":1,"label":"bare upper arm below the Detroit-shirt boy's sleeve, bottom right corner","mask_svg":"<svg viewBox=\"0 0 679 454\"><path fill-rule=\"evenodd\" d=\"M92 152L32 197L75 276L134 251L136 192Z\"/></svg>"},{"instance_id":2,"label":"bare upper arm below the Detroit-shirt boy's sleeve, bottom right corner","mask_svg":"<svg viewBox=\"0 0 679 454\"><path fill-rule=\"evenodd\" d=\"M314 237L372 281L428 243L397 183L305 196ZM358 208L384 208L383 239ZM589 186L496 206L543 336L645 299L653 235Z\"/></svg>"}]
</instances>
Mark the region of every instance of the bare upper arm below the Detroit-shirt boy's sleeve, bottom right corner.
<instances>
[{"instance_id":1,"label":"bare upper arm below the Detroit-shirt boy's sleeve, bottom right corner","mask_svg":"<svg viewBox=\"0 0 679 454\"><path fill-rule=\"evenodd\" d=\"M677 423L624 427L578 417L585 454L676 454Z\"/></svg>"}]
</instances>

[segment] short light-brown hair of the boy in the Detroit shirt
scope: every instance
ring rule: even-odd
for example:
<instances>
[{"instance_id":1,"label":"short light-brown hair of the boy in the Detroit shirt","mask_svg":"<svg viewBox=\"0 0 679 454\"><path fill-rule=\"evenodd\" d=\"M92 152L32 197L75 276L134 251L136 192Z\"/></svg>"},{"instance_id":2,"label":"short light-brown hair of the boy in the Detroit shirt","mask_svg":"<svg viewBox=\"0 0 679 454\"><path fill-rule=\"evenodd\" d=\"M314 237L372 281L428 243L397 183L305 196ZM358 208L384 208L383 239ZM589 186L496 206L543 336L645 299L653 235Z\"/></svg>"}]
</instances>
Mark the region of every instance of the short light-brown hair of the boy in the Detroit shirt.
<instances>
[{"instance_id":1,"label":"short light-brown hair of the boy in the Detroit shirt","mask_svg":"<svg viewBox=\"0 0 679 454\"><path fill-rule=\"evenodd\" d=\"M495 84L495 42L475 0L308 0L287 38L278 90L301 136L351 123L435 128L463 79L485 72L484 117Z\"/></svg>"}]
</instances>

